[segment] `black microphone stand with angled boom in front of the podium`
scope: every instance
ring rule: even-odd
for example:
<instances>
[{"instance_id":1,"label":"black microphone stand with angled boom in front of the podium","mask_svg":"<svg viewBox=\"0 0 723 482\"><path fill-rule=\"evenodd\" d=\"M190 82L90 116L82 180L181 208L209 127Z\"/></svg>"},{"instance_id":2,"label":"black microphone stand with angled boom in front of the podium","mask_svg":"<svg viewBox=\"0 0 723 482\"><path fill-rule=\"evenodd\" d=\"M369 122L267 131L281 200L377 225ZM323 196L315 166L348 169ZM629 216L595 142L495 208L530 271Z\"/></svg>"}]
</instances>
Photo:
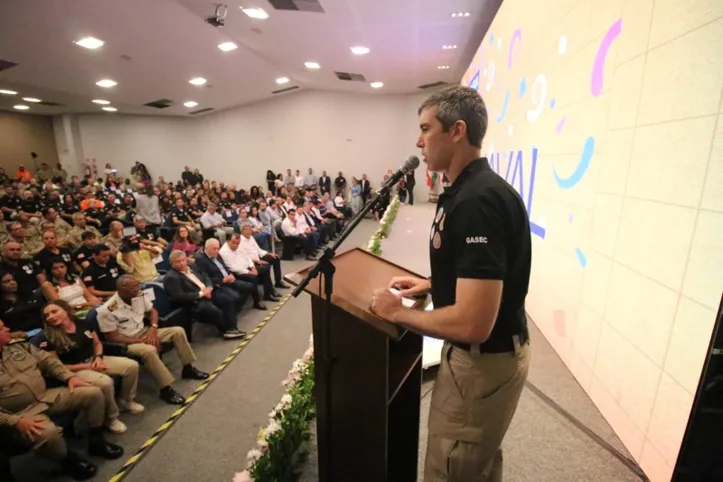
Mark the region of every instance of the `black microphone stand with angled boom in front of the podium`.
<instances>
[{"instance_id":1,"label":"black microphone stand with angled boom in front of the podium","mask_svg":"<svg viewBox=\"0 0 723 482\"><path fill-rule=\"evenodd\" d=\"M331 296L334 293L334 272L336 271L336 267L334 266L334 263L332 262L332 259L334 259L334 256L336 256L336 250L339 249L339 246L341 246L341 243L344 242L346 238L349 237L352 231L359 225L362 219L364 219L364 215L369 212L369 210L372 208L372 206L382 197L382 194L389 190L388 186L382 187L379 189L374 196L371 197L367 201L367 203L362 207L361 211L359 211L356 216L353 216L351 220L349 220L349 223L346 225L344 229L342 229L341 233L339 233L339 237L336 238L336 240L331 244L331 246L327 246L324 248L324 252L317 261L316 265L309 270L309 272L306 274L306 277L299 282L298 286L294 289L294 291L291 293L291 295L294 298L297 298L306 288L306 286L311 282L312 279L319 276L319 274L322 274L324 276L324 308L323 308L323 314L322 319L324 322L322 323L323 329L321 330L321 336L320 340L318 341L320 346L324 347L324 354L321 361L322 369L324 370L324 373L326 375L327 379L327 385L331 386L331 375L334 368L334 357L331 356L331 335L329 331L331 330ZM319 287L321 288L321 287ZM321 291L321 290L320 290ZM320 293L321 295L321 293ZM314 340L314 343L316 344L317 341ZM316 360L316 358L315 358ZM326 409L329 413L331 413L331 390L327 387L326 390L326 398L324 400L326 402ZM325 466L321 467L321 473L330 474L331 470L331 460L332 460L332 448L333 443L331 443L331 423L326 424L326 441L327 441L327 457L326 459L320 463L325 464Z\"/></svg>"}]
</instances>

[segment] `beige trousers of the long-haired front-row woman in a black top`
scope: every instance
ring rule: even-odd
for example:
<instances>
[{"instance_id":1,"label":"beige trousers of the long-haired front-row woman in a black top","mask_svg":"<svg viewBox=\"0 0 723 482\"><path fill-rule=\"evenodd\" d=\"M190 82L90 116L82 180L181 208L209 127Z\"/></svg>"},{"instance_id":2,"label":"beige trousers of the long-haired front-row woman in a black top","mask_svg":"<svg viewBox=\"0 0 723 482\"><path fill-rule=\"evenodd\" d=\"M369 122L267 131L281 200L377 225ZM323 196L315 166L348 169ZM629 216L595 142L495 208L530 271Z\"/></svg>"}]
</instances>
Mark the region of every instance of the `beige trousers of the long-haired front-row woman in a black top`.
<instances>
[{"instance_id":1,"label":"beige trousers of the long-haired front-row woman in a black top","mask_svg":"<svg viewBox=\"0 0 723 482\"><path fill-rule=\"evenodd\" d=\"M81 370L76 373L80 378L100 388L105 398L105 419L111 422L118 418L118 405L115 403L115 385L111 376L120 375L121 400L132 402L138 388L138 363L125 357L107 356L103 358L108 369L104 372Z\"/></svg>"}]
</instances>

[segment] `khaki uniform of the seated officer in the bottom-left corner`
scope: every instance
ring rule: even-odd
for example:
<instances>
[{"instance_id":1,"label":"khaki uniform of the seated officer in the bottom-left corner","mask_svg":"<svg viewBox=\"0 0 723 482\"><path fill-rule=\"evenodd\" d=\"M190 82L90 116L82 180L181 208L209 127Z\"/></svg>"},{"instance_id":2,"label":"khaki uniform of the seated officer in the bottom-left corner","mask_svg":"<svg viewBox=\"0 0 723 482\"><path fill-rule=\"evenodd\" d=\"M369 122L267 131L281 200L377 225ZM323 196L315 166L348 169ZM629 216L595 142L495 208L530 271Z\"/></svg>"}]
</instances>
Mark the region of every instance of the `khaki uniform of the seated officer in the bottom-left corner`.
<instances>
[{"instance_id":1,"label":"khaki uniform of the seated officer in the bottom-left corner","mask_svg":"<svg viewBox=\"0 0 723 482\"><path fill-rule=\"evenodd\" d=\"M49 416L85 411L88 425L99 428L105 421L103 393L97 387L51 388L43 375L67 382L74 374L55 357L19 340L0 351L0 439L32 448L38 455L60 461L67 448L62 430ZM28 440L18 429L22 417L43 418L44 427L35 440Z\"/></svg>"}]
</instances>

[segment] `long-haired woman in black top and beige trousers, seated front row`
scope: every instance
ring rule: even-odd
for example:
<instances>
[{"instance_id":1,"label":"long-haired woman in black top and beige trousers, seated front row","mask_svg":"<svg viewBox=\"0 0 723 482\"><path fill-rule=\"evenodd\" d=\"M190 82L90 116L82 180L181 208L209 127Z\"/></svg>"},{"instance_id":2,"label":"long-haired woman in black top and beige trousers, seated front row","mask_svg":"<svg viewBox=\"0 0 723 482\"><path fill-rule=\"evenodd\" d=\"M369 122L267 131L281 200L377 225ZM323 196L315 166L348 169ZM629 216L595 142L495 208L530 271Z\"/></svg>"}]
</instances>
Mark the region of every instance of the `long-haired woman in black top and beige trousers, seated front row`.
<instances>
[{"instance_id":1,"label":"long-haired woman in black top and beige trousers, seated front row","mask_svg":"<svg viewBox=\"0 0 723 482\"><path fill-rule=\"evenodd\" d=\"M62 300L48 303L43 316L47 349L57 353L68 370L101 389L105 399L106 428L113 433L125 432L126 425L118 420L120 409L131 413L141 413L144 409L135 402L138 362L126 357L103 356L98 334L84 320L73 315L70 306ZM113 375L122 380L118 404Z\"/></svg>"}]
</instances>

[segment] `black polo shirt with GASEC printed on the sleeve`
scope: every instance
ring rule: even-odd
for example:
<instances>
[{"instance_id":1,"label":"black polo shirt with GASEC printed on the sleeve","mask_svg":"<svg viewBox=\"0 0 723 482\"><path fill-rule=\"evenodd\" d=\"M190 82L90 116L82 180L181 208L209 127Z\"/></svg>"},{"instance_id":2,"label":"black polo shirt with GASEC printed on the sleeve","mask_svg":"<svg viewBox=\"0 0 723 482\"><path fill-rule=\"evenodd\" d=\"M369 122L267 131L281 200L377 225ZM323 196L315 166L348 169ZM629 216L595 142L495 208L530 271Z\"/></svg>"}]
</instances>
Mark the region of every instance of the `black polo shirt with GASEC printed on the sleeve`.
<instances>
[{"instance_id":1,"label":"black polo shirt with GASEC printed on the sleeve","mask_svg":"<svg viewBox=\"0 0 723 482\"><path fill-rule=\"evenodd\" d=\"M435 308L454 304L459 278L502 280L500 310L482 347L526 332L532 260L527 209L487 159L472 161L440 194L429 251Z\"/></svg>"}]
</instances>

